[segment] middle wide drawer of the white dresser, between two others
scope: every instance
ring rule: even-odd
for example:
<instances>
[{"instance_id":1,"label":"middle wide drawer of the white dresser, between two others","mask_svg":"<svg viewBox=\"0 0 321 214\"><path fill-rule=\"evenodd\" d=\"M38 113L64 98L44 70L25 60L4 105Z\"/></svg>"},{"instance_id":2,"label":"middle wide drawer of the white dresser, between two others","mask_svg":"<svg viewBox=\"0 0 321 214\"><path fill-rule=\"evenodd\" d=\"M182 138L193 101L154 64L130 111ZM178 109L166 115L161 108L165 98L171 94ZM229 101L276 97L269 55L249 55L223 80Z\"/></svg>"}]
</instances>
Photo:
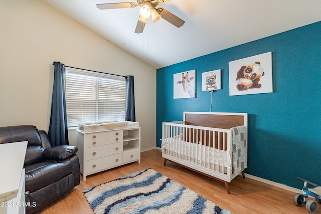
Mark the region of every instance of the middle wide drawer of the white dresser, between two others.
<instances>
[{"instance_id":1,"label":"middle wide drawer of the white dresser, between two others","mask_svg":"<svg viewBox=\"0 0 321 214\"><path fill-rule=\"evenodd\" d=\"M95 146L86 150L86 159L92 160L122 152L122 142L112 143L103 146Z\"/></svg>"}]
</instances>

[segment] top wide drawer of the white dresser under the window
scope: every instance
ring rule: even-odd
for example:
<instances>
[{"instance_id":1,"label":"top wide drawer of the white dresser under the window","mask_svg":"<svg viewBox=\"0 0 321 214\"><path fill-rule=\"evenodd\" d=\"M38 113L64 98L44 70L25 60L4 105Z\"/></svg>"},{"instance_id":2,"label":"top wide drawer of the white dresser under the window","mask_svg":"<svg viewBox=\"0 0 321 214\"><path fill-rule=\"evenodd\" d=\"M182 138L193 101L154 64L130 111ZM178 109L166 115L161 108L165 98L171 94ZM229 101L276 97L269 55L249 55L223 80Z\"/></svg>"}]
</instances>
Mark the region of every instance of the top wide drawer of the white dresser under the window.
<instances>
[{"instance_id":1,"label":"top wide drawer of the white dresser under the window","mask_svg":"<svg viewBox=\"0 0 321 214\"><path fill-rule=\"evenodd\" d=\"M122 142L122 130L86 134L86 148Z\"/></svg>"}]
</instances>

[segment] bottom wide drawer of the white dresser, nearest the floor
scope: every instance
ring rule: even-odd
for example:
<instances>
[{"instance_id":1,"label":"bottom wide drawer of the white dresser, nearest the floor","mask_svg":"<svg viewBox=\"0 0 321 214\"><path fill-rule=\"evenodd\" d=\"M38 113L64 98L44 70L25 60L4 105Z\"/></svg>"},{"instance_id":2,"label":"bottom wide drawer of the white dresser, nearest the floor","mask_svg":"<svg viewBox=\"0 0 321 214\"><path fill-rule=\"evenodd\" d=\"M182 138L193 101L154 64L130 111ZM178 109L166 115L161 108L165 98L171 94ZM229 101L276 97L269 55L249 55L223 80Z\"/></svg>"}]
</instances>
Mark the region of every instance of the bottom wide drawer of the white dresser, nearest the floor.
<instances>
[{"instance_id":1,"label":"bottom wide drawer of the white dresser, nearest the floor","mask_svg":"<svg viewBox=\"0 0 321 214\"><path fill-rule=\"evenodd\" d=\"M86 174L101 171L122 164L122 153L86 161Z\"/></svg>"}]
</instances>

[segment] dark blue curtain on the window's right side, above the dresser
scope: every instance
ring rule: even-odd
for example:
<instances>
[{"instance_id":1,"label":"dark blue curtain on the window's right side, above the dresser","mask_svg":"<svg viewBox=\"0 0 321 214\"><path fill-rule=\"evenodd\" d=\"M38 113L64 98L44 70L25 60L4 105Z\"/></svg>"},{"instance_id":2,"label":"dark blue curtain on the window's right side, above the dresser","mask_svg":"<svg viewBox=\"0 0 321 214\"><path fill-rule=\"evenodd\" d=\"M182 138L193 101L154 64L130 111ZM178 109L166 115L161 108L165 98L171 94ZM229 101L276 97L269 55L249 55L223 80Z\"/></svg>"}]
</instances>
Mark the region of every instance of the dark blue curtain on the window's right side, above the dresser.
<instances>
[{"instance_id":1,"label":"dark blue curtain on the window's right side, above the dresser","mask_svg":"<svg viewBox=\"0 0 321 214\"><path fill-rule=\"evenodd\" d=\"M125 120L136 121L135 118L135 96L134 96L134 76L126 76L126 114Z\"/></svg>"}]
</instances>

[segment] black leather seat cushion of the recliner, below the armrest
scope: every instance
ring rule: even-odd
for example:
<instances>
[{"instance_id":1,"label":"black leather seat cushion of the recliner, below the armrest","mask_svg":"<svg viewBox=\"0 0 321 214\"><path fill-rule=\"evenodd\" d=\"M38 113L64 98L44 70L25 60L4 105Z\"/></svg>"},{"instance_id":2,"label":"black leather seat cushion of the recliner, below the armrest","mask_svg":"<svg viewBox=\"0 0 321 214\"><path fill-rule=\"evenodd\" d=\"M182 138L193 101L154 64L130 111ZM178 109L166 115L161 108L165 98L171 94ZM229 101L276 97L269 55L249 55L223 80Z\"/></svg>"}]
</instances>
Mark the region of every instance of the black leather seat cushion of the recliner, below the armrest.
<instances>
[{"instance_id":1,"label":"black leather seat cushion of the recliner, below the armrest","mask_svg":"<svg viewBox=\"0 0 321 214\"><path fill-rule=\"evenodd\" d=\"M34 192L72 173L70 159L63 161L44 161L27 165L26 191Z\"/></svg>"}]
</instances>

